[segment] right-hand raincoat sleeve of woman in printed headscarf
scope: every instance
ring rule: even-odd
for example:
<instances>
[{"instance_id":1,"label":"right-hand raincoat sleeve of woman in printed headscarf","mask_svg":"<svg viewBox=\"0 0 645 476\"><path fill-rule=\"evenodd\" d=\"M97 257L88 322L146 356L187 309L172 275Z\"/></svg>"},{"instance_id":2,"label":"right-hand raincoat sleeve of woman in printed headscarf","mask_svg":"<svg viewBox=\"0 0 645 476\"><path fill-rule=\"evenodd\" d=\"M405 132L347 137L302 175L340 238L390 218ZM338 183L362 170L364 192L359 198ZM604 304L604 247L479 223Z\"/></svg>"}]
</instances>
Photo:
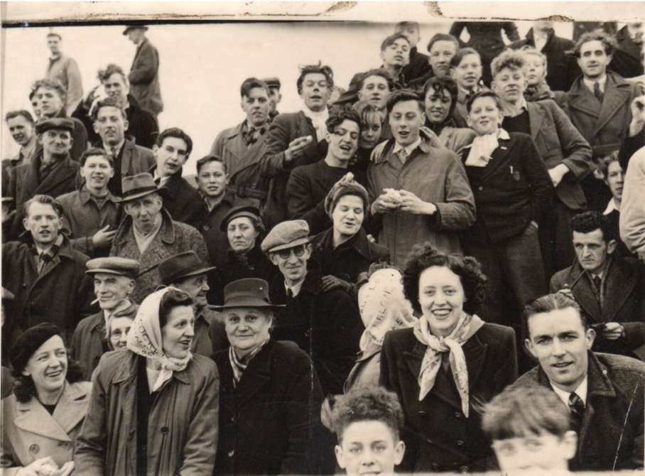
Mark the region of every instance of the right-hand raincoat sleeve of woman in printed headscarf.
<instances>
[{"instance_id":1,"label":"right-hand raincoat sleeve of woman in printed headscarf","mask_svg":"<svg viewBox=\"0 0 645 476\"><path fill-rule=\"evenodd\" d=\"M183 449L181 476L211 475L217 450L217 418L219 416L219 373L217 365L207 359L205 383L195 395L190 425Z\"/></svg>"}]
</instances>

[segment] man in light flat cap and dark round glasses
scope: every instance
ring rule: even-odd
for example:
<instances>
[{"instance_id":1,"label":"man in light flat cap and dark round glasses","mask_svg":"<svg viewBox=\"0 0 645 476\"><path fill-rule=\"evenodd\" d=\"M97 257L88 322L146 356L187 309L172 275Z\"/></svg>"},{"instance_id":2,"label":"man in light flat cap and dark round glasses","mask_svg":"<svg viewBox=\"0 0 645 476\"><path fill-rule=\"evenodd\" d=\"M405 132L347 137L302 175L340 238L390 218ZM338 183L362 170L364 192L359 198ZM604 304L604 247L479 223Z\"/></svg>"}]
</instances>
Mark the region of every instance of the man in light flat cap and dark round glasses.
<instances>
[{"instance_id":1,"label":"man in light flat cap and dark round glasses","mask_svg":"<svg viewBox=\"0 0 645 476\"><path fill-rule=\"evenodd\" d=\"M325 394L342 394L365 330L354 300L345 291L321 291L320 266L311 260L304 220L282 222L262 242L283 276L271 283L271 302L286 304L276 317L276 340L291 340L307 352Z\"/></svg>"}]
</instances>

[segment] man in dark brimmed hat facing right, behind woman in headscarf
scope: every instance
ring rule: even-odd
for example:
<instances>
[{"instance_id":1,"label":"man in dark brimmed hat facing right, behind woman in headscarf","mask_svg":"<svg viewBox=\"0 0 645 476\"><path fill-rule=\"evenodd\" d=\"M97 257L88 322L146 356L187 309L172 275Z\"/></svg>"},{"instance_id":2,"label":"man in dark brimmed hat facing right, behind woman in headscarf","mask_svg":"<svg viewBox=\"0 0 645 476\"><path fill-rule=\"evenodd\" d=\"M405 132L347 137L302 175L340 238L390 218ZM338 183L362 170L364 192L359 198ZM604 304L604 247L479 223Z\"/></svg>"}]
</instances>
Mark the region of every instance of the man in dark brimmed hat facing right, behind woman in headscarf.
<instances>
[{"instance_id":1,"label":"man in dark brimmed hat facing right, behind woman in headscarf","mask_svg":"<svg viewBox=\"0 0 645 476\"><path fill-rule=\"evenodd\" d=\"M224 323L208 308L206 301L206 293L210 289L206 274L215 267L205 265L195 251L185 251L164 259L159 263L158 269L164 286L178 288L193 298L195 335L190 344L190 352L210 357L213 352L226 349L229 341Z\"/></svg>"}]
</instances>

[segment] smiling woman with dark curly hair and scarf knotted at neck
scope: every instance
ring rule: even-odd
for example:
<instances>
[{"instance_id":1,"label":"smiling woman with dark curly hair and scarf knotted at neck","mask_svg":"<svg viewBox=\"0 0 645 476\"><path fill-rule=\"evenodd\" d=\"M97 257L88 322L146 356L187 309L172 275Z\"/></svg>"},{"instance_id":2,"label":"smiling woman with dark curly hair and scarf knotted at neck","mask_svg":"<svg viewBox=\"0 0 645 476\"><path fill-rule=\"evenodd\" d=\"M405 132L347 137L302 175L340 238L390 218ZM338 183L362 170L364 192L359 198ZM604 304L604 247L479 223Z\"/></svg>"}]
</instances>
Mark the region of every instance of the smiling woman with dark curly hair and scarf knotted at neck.
<instances>
[{"instance_id":1,"label":"smiling woman with dark curly hair and scarf knotted at neck","mask_svg":"<svg viewBox=\"0 0 645 476\"><path fill-rule=\"evenodd\" d=\"M473 314L485 281L475 259L429 243L408 256L403 294L420 317L388 332L381 351L381 384L406 416L402 472L491 469L482 406L516 380L517 357L514 330Z\"/></svg>"}]
</instances>

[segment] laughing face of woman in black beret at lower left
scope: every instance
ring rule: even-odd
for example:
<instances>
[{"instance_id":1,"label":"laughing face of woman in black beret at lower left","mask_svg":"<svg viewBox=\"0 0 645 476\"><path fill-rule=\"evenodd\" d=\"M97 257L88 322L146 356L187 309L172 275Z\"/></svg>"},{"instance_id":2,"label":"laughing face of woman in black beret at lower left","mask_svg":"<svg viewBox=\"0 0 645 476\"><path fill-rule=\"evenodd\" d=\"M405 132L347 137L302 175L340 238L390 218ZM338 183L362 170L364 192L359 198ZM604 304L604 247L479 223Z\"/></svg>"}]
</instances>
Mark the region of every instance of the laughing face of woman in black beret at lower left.
<instances>
[{"instance_id":1,"label":"laughing face of woman in black beret at lower left","mask_svg":"<svg viewBox=\"0 0 645 476\"><path fill-rule=\"evenodd\" d=\"M54 335L38 347L29 357L22 374L33 379L38 394L60 390L67 376L67 351L63 338Z\"/></svg>"}]
</instances>

